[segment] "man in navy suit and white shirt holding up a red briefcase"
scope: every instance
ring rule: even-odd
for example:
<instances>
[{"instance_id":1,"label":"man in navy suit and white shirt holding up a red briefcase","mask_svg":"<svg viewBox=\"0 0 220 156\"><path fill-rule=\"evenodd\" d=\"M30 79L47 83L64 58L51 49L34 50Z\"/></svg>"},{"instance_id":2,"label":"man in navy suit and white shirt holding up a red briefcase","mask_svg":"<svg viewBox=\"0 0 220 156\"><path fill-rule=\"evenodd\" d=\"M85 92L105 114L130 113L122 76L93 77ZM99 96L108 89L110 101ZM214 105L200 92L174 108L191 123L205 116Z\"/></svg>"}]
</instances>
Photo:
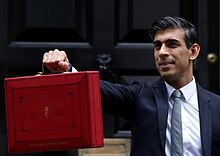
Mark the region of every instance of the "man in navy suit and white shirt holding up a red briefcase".
<instances>
[{"instance_id":1,"label":"man in navy suit and white shirt holding up a red briefcase","mask_svg":"<svg viewBox=\"0 0 220 156\"><path fill-rule=\"evenodd\" d=\"M163 17L149 28L154 44L155 64L161 78L152 85L136 79L130 85L101 81L104 111L122 116L133 124L131 156L220 155L220 96L203 89L193 76L193 64L200 52L194 26L179 17ZM64 51L44 54L43 64L52 72L68 71ZM172 134L173 91L181 95L182 127L179 142ZM177 113L179 114L179 113ZM181 121L182 120L182 121Z\"/></svg>"}]
</instances>

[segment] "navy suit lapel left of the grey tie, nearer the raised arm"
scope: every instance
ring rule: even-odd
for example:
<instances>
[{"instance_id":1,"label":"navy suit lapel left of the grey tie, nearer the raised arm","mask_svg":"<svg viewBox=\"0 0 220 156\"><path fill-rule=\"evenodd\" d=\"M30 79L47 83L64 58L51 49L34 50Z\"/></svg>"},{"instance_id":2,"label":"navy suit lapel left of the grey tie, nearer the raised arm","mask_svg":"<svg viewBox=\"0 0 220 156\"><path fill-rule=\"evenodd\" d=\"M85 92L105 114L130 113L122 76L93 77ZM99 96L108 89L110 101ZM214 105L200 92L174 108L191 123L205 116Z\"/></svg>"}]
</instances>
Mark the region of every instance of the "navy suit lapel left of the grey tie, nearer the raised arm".
<instances>
[{"instance_id":1,"label":"navy suit lapel left of the grey tie, nearer the raised arm","mask_svg":"<svg viewBox=\"0 0 220 156\"><path fill-rule=\"evenodd\" d=\"M163 149L165 149L167 114L168 114L168 106L169 106L167 101L167 91L162 79L159 79L159 81L154 83L153 88L154 88L153 91L155 93L155 100L158 110L158 126L159 126L160 140Z\"/></svg>"}]
</instances>

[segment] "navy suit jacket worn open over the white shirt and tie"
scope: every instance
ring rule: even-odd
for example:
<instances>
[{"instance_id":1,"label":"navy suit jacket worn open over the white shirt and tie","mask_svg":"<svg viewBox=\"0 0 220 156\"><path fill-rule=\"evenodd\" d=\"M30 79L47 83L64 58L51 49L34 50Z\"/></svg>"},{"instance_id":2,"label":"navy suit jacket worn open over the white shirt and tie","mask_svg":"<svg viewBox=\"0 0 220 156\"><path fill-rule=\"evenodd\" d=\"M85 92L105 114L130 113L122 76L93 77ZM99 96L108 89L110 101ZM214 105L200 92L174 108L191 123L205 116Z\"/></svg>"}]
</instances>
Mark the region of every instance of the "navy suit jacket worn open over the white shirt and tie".
<instances>
[{"instance_id":1,"label":"navy suit jacket worn open over the white shirt and tie","mask_svg":"<svg viewBox=\"0 0 220 156\"><path fill-rule=\"evenodd\" d=\"M220 156L220 96L197 84L204 156ZM165 155L168 97L165 83L134 80L130 85L101 81L103 109L132 123L131 156Z\"/></svg>"}]
</instances>

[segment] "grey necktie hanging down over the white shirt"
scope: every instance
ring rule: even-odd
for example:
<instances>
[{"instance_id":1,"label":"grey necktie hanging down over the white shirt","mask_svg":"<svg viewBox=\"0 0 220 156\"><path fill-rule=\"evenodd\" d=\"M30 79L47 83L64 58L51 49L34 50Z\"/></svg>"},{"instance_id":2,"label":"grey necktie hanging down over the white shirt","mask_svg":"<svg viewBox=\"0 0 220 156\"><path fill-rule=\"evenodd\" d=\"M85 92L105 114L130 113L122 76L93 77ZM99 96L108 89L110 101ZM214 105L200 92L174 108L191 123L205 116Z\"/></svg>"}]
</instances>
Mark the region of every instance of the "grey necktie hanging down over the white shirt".
<instances>
[{"instance_id":1,"label":"grey necktie hanging down over the white shirt","mask_svg":"<svg viewBox=\"0 0 220 156\"><path fill-rule=\"evenodd\" d=\"M175 90L172 94L174 104L171 117L171 156L183 155L181 95L180 90Z\"/></svg>"}]
</instances>

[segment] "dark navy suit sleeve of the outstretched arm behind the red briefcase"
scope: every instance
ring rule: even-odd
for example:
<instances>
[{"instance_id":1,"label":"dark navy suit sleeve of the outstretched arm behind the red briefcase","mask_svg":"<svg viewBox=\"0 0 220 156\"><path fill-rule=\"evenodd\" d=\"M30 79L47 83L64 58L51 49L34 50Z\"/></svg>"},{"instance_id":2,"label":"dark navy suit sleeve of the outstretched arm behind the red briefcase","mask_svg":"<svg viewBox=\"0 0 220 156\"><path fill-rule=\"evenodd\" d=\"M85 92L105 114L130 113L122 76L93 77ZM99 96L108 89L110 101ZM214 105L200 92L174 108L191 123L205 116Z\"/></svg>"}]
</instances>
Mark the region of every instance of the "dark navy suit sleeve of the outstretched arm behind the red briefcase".
<instances>
[{"instance_id":1,"label":"dark navy suit sleeve of the outstretched arm behind the red briefcase","mask_svg":"<svg viewBox=\"0 0 220 156\"><path fill-rule=\"evenodd\" d=\"M100 86L103 110L128 120L132 119L136 98L141 90L140 81L134 80L130 85L121 85L101 80Z\"/></svg>"}]
</instances>

